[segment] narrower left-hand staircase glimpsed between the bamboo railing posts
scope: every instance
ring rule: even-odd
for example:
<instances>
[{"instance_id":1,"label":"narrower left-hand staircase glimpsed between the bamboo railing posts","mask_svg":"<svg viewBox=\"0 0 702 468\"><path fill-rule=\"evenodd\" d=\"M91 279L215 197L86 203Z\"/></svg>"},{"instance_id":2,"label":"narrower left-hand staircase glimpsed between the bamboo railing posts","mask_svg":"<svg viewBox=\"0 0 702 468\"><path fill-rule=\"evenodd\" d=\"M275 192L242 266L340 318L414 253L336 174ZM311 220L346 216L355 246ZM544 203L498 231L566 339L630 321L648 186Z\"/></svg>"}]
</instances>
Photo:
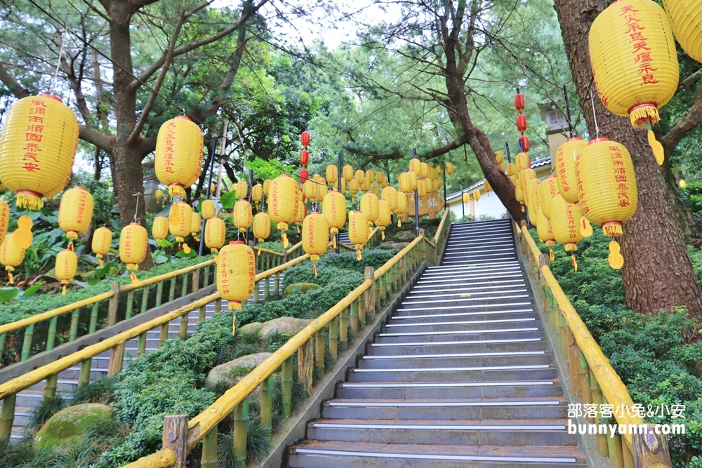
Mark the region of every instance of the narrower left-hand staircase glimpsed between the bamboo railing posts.
<instances>
[{"instance_id":1,"label":"narrower left-hand staircase glimpsed between the bamboo railing posts","mask_svg":"<svg viewBox=\"0 0 702 468\"><path fill-rule=\"evenodd\" d=\"M280 274L280 284L283 284L283 274ZM262 283L263 286L263 283ZM270 292L274 293L274 282L270 281ZM260 291L259 300L263 301L263 290ZM253 303L253 299L249 299L249 304ZM205 309L205 319L210 319L214 314L215 306L214 303L208 304ZM227 301L222 301L222 310L227 310ZM199 316L199 310L194 310L190 312L188 316L187 323L187 333L194 333L197 330L197 319ZM178 337L180 333L180 318L175 319L168 323L168 339ZM160 328L151 330L146 333L146 352L152 351L159 347L159 336L161 334ZM129 361L135 359L136 356L137 340L129 340L126 342L124 349L124 367L127 366ZM110 352L104 352L98 354L98 356L93 357L91 363L90 380L91 382L107 377L107 368L110 363ZM56 384L56 394L62 396L63 398L70 401L75 389L78 387L78 376L81 370L81 366L74 366L63 370L58 374L58 381ZM13 428L11 439L21 439L24 437L24 428L29 422L29 415L32 413L34 408L39 406L41 399L44 398L44 385L46 385L46 380L39 382L32 387L29 387L22 392L18 392L17 400L15 403L15 420L13 421Z\"/></svg>"}]
</instances>

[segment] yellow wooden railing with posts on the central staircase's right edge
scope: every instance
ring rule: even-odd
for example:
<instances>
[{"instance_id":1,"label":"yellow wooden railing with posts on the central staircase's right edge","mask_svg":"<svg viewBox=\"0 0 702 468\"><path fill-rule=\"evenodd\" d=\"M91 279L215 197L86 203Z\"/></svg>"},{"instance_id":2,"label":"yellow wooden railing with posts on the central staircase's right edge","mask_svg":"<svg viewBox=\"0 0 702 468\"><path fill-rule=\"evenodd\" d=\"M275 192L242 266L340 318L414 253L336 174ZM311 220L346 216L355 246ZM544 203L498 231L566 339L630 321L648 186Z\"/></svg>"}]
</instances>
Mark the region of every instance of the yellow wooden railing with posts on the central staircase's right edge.
<instances>
[{"instance_id":1,"label":"yellow wooden railing with posts on the central staircase's right edge","mask_svg":"<svg viewBox=\"0 0 702 468\"><path fill-rule=\"evenodd\" d=\"M616 422L627 429L644 425L644 420L635 411L634 402L626 386L604 356L595 338L568 300L548 265L548 255L542 254L527 227L517 226L520 246L526 254L531 274L540 283L541 302L552 329L557 336L557 345L567 361L567 373L571 377L571 392L581 397L583 403L597 405L597 417L588 417L588 422L598 424L602 412L600 405L607 403L614 408ZM623 434L610 437L597 434L597 451L609 457L613 468L665 468L672 467L667 437L661 434Z\"/></svg>"}]
</instances>

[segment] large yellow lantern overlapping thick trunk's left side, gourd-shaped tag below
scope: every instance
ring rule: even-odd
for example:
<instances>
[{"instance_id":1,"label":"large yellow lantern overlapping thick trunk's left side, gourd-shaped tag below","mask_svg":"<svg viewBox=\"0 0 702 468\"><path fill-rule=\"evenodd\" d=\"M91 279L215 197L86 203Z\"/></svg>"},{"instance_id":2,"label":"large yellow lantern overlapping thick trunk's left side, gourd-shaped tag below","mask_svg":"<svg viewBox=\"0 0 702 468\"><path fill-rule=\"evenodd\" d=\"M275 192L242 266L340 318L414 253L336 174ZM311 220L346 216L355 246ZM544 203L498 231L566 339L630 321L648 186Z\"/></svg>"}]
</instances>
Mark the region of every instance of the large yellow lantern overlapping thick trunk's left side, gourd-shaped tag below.
<instances>
[{"instance_id":1,"label":"large yellow lantern overlapping thick trunk's left side, gourd-shaped tag below","mask_svg":"<svg viewBox=\"0 0 702 468\"><path fill-rule=\"evenodd\" d=\"M628 150L607 138L592 140L578 157L576 178L585 217L602 226L605 236L621 236L622 223L636 213L638 203Z\"/></svg>"}]
</instances>

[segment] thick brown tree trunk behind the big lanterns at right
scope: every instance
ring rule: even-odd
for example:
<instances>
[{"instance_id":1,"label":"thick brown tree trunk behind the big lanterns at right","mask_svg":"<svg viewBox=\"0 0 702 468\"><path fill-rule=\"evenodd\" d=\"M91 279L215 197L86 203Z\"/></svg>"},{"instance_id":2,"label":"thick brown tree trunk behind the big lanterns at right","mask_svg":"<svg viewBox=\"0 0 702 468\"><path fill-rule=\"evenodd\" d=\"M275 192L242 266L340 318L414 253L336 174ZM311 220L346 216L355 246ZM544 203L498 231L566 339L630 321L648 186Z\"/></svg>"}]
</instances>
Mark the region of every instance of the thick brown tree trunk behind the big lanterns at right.
<instances>
[{"instance_id":1,"label":"thick brown tree trunk behind the big lanterns at right","mask_svg":"<svg viewBox=\"0 0 702 468\"><path fill-rule=\"evenodd\" d=\"M555 0L563 41L573 80L591 135L595 120L590 104L590 25L607 0ZM594 86L593 86L594 88ZM597 93L593 89L593 93ZM639 189L635 216L624 223L622 277L627 307L644 314L687 306L692 316L702 318L702 293L675 220L674 194L665 182L648 145L645 131L635 130L629 119L607 111L595 99L600 136L616 140L632 155Z\"/></svg>"}]
</instances>

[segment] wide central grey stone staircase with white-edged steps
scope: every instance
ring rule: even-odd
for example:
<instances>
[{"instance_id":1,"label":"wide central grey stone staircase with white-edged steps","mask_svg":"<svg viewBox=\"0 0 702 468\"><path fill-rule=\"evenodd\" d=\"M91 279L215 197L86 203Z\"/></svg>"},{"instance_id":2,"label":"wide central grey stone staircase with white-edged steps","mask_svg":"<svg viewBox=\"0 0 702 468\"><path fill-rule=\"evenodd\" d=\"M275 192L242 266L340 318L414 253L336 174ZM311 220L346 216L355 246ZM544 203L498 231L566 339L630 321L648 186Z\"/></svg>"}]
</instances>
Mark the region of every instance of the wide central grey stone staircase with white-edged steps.
<instances>
[{"instance_id":1,"label":"wide central grey stone staircase with white-edged steps","mask_svg":"<svg viewBox=\"0 0 702 468\"><path fill-rule=\"evenodd\" d=\"M585 466L510 220L454 224L289 467Z\"/></svg>"}]
</instances>

